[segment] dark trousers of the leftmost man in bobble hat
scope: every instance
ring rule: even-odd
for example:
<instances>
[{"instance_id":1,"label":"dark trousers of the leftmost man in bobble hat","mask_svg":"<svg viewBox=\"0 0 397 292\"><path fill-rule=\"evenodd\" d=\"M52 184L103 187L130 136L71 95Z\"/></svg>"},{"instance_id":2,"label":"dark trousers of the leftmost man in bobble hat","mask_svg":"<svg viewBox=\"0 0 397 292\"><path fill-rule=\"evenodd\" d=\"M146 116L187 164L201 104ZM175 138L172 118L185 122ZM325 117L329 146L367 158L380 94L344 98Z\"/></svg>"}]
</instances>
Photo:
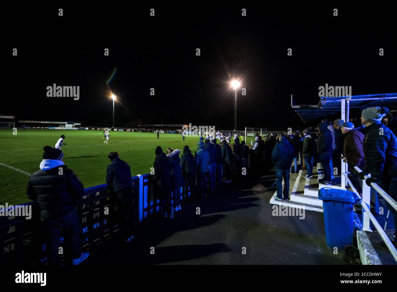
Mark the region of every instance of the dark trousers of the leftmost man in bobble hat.
<instances>
[{"instance_id":1,"label":"dark trousers of the leftmost man in bobble hat","mask_svg":"<svg viewBox=\"0 0 397 292\"><path fill-rule=\"evenodd\" d=\"M61 264L61 257L58 253L60 228L65 232L65 244L70 250L71 258L79 259L81 257L80 234L82 230L77 210L73 209L64 216L46 219L44 222L47 233L48 263L50 265Z\"/></svg>"}]
</instances>

